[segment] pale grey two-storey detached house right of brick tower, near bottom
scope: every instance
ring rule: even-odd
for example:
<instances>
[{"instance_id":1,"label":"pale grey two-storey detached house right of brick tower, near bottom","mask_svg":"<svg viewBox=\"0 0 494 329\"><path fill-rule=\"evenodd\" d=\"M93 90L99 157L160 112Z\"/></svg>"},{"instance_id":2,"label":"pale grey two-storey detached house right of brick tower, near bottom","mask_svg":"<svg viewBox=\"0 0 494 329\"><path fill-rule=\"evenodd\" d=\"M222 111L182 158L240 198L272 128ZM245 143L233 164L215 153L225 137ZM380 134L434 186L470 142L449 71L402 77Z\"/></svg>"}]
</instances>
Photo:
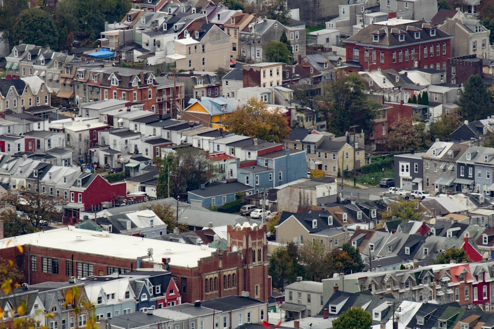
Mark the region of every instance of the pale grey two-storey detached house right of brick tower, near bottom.
<instances>
[{"instance_id":1,"label":"pale grey two-storey detached house right of brick tower, near bottom","mask_svg":"<svg viewBox=\"0 0 494 329\"><path fill-rule=\"evenodd\" d=\"M288 296L288 298L280 305L282 319L297 320L311 317L315 316L323 309L324 299L322 282L294 282L285 287L285 295Z\"/></svg>"}]
</instances>

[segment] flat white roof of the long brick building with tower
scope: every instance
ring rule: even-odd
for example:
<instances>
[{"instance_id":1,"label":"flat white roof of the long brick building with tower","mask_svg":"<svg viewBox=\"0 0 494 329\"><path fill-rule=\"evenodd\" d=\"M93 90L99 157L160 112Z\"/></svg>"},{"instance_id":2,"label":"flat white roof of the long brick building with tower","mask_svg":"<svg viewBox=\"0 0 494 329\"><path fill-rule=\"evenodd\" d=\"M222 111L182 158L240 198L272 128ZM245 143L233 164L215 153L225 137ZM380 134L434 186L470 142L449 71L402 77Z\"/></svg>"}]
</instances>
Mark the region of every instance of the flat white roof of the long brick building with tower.
<instances>
[{"instance_id":1,"label":"flat white roof of the long brick building with tower","mask_svg":"<svg viewBox=\"0 0 494 329\"><path fill-rule=\"evenodd\" d=\"M170 258L171 265L182 267L196 267L200 258L211 256L211 253L216 251L216 249L208 248L205 245L195 246L122 234L96 232L75 228L74 226L0 240L0 250L23 245L56 248L76 253L131 260L146 256L148 248L153 248L155 263L161 264L162 258ZM144 261L153 262L150 259L145 259Z\"/></svg>"}]
</instances>

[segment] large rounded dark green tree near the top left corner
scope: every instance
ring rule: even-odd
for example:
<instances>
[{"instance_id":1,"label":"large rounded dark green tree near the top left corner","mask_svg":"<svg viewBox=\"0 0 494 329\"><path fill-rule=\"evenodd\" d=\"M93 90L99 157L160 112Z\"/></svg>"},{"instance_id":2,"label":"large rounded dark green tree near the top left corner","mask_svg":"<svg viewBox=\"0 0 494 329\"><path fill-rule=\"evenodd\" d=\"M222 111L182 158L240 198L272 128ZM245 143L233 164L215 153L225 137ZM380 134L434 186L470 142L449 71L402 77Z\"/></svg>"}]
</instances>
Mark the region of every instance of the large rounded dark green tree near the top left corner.
<instances>
[{"instance_id":1,"label":"large rounded dark green tree near the top left corner","mask_svg":"<svg viewBox=\"0 0 494 329\"><path fill-rule=\"evenodd\" d=\"M50 33L46 33L50 31ZM13 44L22 40L24 43L50 45L58 48L58 35L53 19L40 8L25 9L20 12L11 30L10 40Z\"/></svg>"}]
</instances>

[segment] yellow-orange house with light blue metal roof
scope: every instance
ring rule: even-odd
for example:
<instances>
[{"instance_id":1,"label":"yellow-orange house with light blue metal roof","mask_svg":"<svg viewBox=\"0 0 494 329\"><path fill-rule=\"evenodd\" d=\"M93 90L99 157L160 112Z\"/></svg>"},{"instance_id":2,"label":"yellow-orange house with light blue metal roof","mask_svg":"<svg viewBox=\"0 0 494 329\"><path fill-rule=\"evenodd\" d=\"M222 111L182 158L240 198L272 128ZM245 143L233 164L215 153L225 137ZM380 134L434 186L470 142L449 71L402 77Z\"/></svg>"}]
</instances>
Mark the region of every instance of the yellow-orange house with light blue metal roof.
<instances>
[{"instance_id":1,"label":"yellow-orange house with light blue metal roof","mask_svg":"<svg viewBox=\"0 0 494 329\"><path fill-rule=\"evenodd\" d=\"M235 110L224 97L191 98L189 106L183 111L182 119L202 124L205 127L222 128L223 122Z\"/></svg>"}]
</instances>

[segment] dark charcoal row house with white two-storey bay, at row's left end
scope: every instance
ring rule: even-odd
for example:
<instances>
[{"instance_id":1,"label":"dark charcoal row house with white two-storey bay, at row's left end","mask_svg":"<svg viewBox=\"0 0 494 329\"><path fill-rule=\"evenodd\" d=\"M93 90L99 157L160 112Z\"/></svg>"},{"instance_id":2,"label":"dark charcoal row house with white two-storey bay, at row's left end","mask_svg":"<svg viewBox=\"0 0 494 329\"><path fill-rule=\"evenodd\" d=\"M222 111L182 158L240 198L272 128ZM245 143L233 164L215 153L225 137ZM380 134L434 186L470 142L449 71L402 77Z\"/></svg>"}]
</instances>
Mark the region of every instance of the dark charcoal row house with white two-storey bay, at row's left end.
<instances>
[{"instance_id":1,"label":"dark charcoal row house with white two-storey bay, at row's left end","mask_svg":"<svg viewBox=\"0 0 494 329\"><path fill-rule=\"evenodd\" d=\"M394 156L395 186L407 191L423 189L423 161L425 152L399 154Z\"/></svg>"}]
</instances>

